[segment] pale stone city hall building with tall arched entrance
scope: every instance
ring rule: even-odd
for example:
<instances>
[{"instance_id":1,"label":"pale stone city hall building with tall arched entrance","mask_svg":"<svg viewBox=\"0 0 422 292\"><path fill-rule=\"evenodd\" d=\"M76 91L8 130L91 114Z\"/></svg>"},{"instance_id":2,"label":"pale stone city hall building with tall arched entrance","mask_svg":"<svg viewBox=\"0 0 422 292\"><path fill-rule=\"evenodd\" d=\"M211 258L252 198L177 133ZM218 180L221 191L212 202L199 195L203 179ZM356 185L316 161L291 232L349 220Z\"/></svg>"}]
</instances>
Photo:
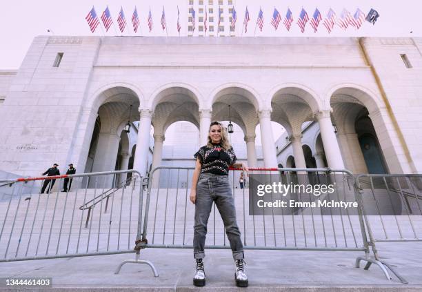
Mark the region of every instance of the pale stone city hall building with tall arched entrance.
<instances>
[{"instance_id":1,"label":"pale stone city hall building with tall arched entrance","mask_svg":"<svg viewBox=\"0 0 422 292\"><path fill-rule=\"evenodd\" d=\"M193 166L210 121L230 120L248 166L422 173L421 51L418 38L36 37L0 71L0 171ZM180 121L197 130L168 133Z\"/></svg>"}]
</instances>

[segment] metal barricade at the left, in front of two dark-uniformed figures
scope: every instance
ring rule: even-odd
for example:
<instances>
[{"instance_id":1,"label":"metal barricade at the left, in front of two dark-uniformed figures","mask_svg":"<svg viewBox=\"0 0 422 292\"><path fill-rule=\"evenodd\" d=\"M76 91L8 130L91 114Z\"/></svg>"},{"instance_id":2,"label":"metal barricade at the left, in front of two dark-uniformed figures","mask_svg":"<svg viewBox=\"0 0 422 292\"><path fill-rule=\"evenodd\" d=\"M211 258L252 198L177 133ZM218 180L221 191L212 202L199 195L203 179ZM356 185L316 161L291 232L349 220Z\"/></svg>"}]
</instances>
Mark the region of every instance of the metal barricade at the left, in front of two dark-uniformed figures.
<instances>
[{"instance_id":1,"label":"metal barricade at the left, in front of two dark-uniformed figures","mask_svg":"<svg viewBox=\"0 0 422 292\"><path fill-rule=\"evenodd\" d=\"M134 253L142 184L133 170L0 181L0 262Z\"/></svg>"}]
</instances>

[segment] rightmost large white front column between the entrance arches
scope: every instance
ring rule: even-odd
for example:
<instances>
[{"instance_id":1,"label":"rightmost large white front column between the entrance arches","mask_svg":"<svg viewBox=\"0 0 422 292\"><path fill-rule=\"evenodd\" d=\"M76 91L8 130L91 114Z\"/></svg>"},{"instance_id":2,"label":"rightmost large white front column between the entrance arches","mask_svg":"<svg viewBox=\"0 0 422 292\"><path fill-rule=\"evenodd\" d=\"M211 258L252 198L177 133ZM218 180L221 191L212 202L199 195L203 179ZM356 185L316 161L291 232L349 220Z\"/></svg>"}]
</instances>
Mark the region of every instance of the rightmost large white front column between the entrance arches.
<instances>
[{"instance_id":1,"label":"rightmost large white front column between the entrance arches","mask_svg":"<svg viewBox=\"0 0 422 292\"><path fill-rule=\"evenodd\" d=\"M325 157L327 158L328 167L336 169L344 169L343 157L337 142L334 128L331 123L330 110L320 110L315 113L321 131L321 139L323 142Z\"/></svg>"}]
</instances>

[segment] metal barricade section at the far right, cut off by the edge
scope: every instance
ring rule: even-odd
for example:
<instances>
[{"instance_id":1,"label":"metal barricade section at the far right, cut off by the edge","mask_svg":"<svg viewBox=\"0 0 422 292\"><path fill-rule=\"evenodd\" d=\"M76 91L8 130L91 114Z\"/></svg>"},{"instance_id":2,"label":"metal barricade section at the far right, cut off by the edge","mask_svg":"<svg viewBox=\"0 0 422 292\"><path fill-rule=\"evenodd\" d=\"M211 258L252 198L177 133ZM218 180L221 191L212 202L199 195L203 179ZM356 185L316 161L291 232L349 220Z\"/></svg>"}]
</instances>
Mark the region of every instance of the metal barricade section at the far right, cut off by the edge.
<instances>
[{"instance_id":1,"label":"metal barricade section at the far right, cut off by the edge","mask_svg":"<svg viewBox=\"0 0 422 292\"><path fill-rule=\"evenodd\" d=\"M356 188L363 199L363 216L374 259L402 283L408 283L380 258L376 242L422 241L422 175L358 175ZM369 267L370 262L365 269Z\"/></svg>"}]
</instances>

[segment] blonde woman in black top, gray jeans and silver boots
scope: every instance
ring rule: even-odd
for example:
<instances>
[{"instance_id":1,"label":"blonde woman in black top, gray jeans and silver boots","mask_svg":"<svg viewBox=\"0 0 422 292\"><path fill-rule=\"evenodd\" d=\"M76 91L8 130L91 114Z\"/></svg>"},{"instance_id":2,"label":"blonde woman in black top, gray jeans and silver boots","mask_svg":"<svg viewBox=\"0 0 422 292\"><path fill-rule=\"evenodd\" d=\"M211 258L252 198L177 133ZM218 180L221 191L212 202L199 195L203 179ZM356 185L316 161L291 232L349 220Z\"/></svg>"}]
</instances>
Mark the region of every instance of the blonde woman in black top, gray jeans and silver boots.
<instances>
[{"instance_id":1,"label":"blonde woman in black top, gray jeans and silver boots","mask_svg":"<svg viewBox=\"0 0 422 292\"><path fill-rule=\"evenodd\" d=\"M244 164L235 164L236 155L234 155L233 148L228 143L225 128L219 121L212 121L208 132L208 144L201 147L194 157L197 161L190 191L190 201L195 204L193 245L196 272L194 285L205 285L205 271L203 268L205 237L212 203L215 202L223 219L225 232L232 249L236 266L234 272L236 284L237 286L246 287L248 286L248 277L245 274L243 244L236 222L234 198L228 182L228 168L233 166L248 172L248 167Z\"/></svg>"}]
</instances>

